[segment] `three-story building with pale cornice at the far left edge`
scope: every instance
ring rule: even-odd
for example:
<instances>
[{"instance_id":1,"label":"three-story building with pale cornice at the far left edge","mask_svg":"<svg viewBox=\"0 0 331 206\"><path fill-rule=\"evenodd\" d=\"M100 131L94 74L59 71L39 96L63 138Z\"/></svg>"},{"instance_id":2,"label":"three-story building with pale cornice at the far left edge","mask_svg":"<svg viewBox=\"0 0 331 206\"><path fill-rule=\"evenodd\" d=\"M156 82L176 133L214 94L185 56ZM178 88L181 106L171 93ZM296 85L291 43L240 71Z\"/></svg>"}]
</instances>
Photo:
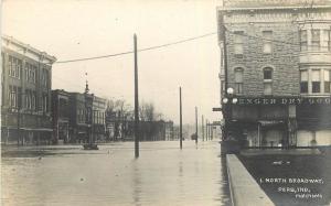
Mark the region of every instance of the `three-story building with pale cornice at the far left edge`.
<instances>
[{"instance_id":1,"label":"three-story building with pale cornice at the far left edge","mask_svg":"<svg viewBox=\"0 0 331 206\"><path fill-rule=\"evenodd\" d=\"M56 58L13 37L1 40L1 140L50 142L51 77Z\"/></svg>"}]
</instances>

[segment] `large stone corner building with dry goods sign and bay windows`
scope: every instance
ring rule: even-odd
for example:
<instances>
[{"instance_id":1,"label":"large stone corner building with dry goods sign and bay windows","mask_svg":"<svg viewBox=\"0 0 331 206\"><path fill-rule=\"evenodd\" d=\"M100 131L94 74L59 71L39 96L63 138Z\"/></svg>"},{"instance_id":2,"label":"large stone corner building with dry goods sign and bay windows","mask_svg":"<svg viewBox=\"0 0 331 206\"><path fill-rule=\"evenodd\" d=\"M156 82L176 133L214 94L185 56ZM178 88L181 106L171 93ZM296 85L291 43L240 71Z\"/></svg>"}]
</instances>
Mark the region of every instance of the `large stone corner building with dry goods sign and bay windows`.
<instances>
[{"instance_id":1,"label":"large stone corner building with dry goods sign and bay windows","mask_svg":"<svg viewBox=\"0 0 331 206\"><path fill-rule=\"evenodd\" d=\"M225 0L217 24L223 138L330 145L330 1Z\"/></svg>"}]
</instances>

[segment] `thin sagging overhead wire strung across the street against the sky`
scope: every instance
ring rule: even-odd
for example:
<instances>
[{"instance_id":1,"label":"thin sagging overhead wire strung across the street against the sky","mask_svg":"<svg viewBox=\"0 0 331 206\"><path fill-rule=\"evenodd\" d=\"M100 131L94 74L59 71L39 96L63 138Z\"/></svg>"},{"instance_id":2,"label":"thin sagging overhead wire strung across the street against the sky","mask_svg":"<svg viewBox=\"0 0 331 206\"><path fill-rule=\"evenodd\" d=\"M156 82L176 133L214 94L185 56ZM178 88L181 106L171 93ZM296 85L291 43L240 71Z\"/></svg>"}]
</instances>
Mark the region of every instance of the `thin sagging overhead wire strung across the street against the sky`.
<instances>
[{"instance_id":1,"label":"thin sagging overhead wire strung across the street against the sky","mask_svg":"<svg viewBox=\"0 0 331 206\"><path fill-rule=\"evenodd\" d=\"M203 34L203 35L189 37L189 39L185 39L185 40L180 40L180 41L177 41L177 42L171 42L171 43L161 44L161 45L157 45L157 46L146 47L146 48L138 50L138 52L145 52L145 51L158 50L158 48L161 48L161 47L168 47L168 46L172 46L172 45L175 45L175 44L181 44L181 43L194 41L194 40L197 40L197 39L207 37L210 35L214 35L214 34L217 34L217 32L206 33L206 34ZM121 56L121 55L127 55L127 54L132 54L132 53L134 53L134 51L128 51L128 52L108 54L108 55L103 55L103 56L94 56L94 57L86 57L86 58L75 58L75 59L68 59L68 61L60 61L60 62L55 62L54 64L83 62L83 61L92 61L92 59L98 59L98 58L108 58L108 57Z\"/></svg>"}]
</instances>

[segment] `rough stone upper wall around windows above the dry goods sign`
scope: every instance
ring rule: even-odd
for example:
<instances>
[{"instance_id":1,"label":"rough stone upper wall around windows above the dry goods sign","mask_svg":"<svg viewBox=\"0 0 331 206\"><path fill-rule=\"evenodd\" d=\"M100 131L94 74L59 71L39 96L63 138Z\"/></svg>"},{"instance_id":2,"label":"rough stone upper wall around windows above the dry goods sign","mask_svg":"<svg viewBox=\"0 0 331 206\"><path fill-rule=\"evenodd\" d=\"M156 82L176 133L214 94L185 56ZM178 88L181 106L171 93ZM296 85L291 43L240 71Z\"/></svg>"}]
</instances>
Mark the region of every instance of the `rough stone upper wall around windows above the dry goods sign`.
<instances>
[{"instance_id":1,"label":"rough stone upper wall around windows above the dry goods sign","mask_svg":"<svg viewBox=\"0 0 331 206\"><path fill-rule=\"evenodd\" d=\"M259 22L227 24L229 31L244 31L249 36L263 37L263 31L273 31L276 41L299 43L298 28L291 22ZM227 79L234 88L234 68L243 67L243 95L264 95L264 67L273 67L273 95L299 95L299 46L273 42L271 54L263 53L263 40L244 36L244 54L234 55L234 35L227 32Z\"/></svg>"}]
</instances>

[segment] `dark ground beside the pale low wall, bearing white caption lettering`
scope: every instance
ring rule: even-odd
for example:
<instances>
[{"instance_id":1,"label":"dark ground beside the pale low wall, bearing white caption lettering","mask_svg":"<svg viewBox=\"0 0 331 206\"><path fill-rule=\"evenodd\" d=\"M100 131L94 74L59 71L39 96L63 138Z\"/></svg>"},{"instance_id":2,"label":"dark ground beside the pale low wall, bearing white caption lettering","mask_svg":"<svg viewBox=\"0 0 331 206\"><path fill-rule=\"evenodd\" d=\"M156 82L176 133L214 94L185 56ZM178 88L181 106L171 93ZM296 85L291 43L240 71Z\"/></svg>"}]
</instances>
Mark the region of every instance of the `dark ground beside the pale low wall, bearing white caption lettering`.
<instances>
[{"instance_id":1,"label":"dark ground beside the pale low wall, bearing white caption lettering","mask_svg":"<svg viewBox=\"0 0 331 206\"><path fill-rule=\"evenodd\" d=\"M275 205L331 203L331 149L246 150L238 159Z\"/></svg>"}]
</instances>

